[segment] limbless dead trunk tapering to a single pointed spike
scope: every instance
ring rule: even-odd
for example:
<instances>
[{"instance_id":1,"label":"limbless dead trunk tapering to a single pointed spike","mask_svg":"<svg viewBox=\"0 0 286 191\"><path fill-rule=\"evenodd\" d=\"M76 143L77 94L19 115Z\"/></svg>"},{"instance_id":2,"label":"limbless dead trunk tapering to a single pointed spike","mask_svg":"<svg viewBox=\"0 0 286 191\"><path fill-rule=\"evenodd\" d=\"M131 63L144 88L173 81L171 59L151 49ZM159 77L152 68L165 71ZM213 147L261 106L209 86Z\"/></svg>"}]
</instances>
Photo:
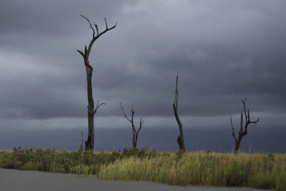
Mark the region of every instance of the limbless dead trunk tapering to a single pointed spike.
<instances>
[{"instance_id":1,"label":"limbless dead trunk tapering to a single pointed spike","mask_svg":"<svg viewBox=\"0 0 286 191\"><path fill-rule=\"evenodd\" d=\"M177 80L176 80L176 90L175 90L175 99L174 99L174 103L173 103L173 109L174 109L174 114L175 114L175 118L177 120L178 126L179 126L179 130L180 130L180 135L178 135L178 145L179 145L179 150L186 152L185 150L185 143L184 143L184 133L183 133L183 125L181 123L181 120L178 116L178 76L177 76Z\"/></svg>"}]
</instances>

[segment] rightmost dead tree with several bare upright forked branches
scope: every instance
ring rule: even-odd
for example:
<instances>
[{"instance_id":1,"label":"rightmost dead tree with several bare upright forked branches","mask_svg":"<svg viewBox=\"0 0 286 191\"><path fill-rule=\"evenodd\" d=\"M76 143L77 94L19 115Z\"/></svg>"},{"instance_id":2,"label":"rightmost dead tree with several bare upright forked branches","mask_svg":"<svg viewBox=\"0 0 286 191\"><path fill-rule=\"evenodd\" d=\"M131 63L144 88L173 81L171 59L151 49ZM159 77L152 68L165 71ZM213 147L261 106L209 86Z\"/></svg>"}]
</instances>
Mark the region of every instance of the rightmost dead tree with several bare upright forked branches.
<instances>
[{"instance_id":1,"label":"rightmost dead tree with several bare upright forked branches","mask_svg":"<svg viewBox=\"0 0 286 191\"><path fill-rule=\"evenodd\" d=\"M244 135L247 134L247 126L248 124L254 123L256 124L259 121L259 118L257 119L257 121L250 121L250 117L249 117L249 109L247 109L247 115L246 115L246 111L245 111L245 99L244 101L241 99L242 103L243 103L243 109L244 109L244 115L245 115L245 126L244 126L244 130L243 130L243 113L241 110L241 116L240 116L240 131L238 132L238 139L235 137L235 130L233 128L232 125L232 118L231 118L231 113L229 112L230 115L230 122L231 122L231 129L232 129L232 136L234 137L235 140L235 150L234 150L234 154L237 154L239 152L239 145L241 142L241 139L243 138ZM256 124L257 125L257 124Z\"/></svg>"}]
</instances>

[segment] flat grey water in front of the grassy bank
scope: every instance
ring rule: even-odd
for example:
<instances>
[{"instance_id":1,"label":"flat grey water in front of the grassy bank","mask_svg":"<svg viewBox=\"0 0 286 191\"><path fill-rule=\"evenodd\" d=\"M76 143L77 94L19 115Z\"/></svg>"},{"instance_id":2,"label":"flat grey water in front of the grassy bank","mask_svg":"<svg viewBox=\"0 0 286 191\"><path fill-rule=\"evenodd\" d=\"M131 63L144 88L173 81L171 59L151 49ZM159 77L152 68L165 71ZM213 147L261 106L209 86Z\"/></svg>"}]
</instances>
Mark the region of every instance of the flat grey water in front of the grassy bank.
<instances>
[{"instance_id":1,"label":"flat grey water in front of the grassy bank","mask_svg":"<svg viewBox=\"0 0 286 191\"><path fill-rule=\"evenodd\" d=\"M169 186L167 184L139 181L109 181L91 178L75 177L75 175L49 173L29 170L0 169L0 190L1 191L32 191L32 190L61 190L61 191L131 191L131 190L214 190L214 191L261 191L252 188L236 187L203 187L203 186Z\"/></svg>"}]
</instances>

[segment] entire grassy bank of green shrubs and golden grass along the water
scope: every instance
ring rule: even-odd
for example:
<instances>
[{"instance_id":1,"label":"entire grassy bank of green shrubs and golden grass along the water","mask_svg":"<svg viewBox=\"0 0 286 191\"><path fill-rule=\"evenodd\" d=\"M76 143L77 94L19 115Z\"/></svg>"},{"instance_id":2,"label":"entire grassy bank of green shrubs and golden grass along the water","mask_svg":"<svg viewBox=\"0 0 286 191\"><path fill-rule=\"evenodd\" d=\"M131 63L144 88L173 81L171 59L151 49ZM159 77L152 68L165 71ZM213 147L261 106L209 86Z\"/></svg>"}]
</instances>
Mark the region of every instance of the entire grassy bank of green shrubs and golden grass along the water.
<instances>
[{"instance_id":1,"label":"entire grassy bank of green shrubs and golden grass along the water","mask_svg":"<svg viewBox=\"0 0 286 191\"><path fill-rule=\"evenodd\" d=\"M240 186L286 190L286 154L0 151L0 167L96 174L99 179L154 181L171 185Z\"/></svg>"}]
</instances>

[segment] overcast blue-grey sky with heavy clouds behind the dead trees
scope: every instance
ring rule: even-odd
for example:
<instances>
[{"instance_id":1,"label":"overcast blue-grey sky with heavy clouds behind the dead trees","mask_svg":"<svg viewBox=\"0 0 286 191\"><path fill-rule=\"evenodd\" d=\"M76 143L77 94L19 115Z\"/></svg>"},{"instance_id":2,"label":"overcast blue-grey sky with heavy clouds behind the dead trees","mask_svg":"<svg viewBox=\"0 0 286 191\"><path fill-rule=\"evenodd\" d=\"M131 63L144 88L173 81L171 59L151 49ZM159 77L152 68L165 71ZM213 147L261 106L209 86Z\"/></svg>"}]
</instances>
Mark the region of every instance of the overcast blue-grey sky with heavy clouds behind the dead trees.
<instances>
[{"instance_id":1,"label":"overcast blue-grey sky with heavy clouds behind the dead trees","mask_svg":"<svg viewBox=\"0 0 286 191\"><path fill-rule=\"evenodd\" d=\"M248 129L253 134L272 132L269 142L279 137L277 150L285 151L286 138L280 136L286 123L285 10L284 0L1 0L0 149L21 146L15 139L24 132L34 132L25 135L24 142L35 148L40 146L28 143L38 136L46 147L69 145L50 142L57 131L65 137L76 132L76 145L82 130L87 138L86 71L77 49L88 46L92 30L83 15L99 32L105 30L105 17L108 27L117 22L95 41L89 56L94 100L106 103L94 122L95 134L110 129L102 140L132 147L131 124L119 101L128 117L133 103L136 128L140 118L144 120L139 145L150 146L152 128L162 130L156 130L154 139L176 140L172 102L178 75L178 114L183 128L190 129L185 137L191 139L192 129L223 129L230 136L225 144L234 147L229 111L238 134L240 99L246 97L251 121L259 117L258 126L250 124ZM130 130L129 145L111 138L123 128ZM149 133L144 134L144 128ZM278 128L276 134L273 128ZM151 146L161 148L167 141ZM195 143L189 144L186 148L192 150ZM174 141L171 149L177 146ZM107 149L104 144L95 147Z\"/></svg>"}]
</instances>

